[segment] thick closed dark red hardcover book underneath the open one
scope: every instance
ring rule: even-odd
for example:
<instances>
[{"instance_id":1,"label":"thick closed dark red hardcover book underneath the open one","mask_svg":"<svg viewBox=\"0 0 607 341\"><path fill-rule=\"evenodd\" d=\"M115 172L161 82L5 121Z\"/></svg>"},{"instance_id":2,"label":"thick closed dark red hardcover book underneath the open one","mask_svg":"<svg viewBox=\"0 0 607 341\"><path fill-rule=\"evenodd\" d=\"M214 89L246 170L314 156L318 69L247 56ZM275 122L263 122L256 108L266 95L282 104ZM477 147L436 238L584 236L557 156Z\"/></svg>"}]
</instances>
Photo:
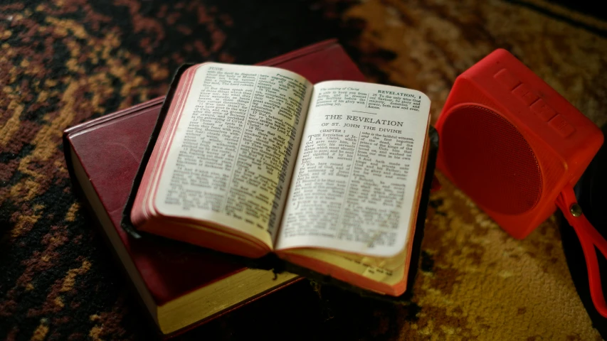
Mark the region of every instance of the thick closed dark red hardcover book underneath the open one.
<instances>
[{"instance_id":1,"label":"thick closed dark red hardcover book underneath the open one","mask_svg":"<svg viewBox=\"0 0 607 341\"><path fill-rule=\"evenodd\" d=\"M335 40L273 58L273 65L311 82L364 80ZM139 163L163 98L67 129L65 159L75 188L102 226L141 301L163 335L204 323L260 298L297 276L248 269L201 249L154 238L133 239L120 227Z\"/></svg>"}]
</instances>

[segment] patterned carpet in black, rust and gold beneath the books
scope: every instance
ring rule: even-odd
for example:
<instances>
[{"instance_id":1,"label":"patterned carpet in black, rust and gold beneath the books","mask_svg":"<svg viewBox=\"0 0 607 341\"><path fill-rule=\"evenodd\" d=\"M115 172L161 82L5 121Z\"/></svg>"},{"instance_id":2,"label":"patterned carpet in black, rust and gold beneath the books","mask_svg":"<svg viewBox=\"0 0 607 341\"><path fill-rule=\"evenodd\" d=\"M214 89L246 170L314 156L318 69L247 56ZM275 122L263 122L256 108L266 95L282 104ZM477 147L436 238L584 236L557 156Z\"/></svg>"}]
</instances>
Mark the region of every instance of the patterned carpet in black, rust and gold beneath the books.
<instances>
[{"instance_id":1,"label":"patterned carpet in black, rust and gold beneath the books","mask_svg":"<svg viewBox=\"0 0 607 341\"><path fill-rule=\"evenodd\" d=\"M164 94L185 61L255 63L332 37L369 80L428 94L435 120L455 77L502 47L606 124L607 21L565 2L2 1L0 339L153 337L70 190L68 126ZM555 220L514 240L439 176L413 304L302 281L178 339L601 340Z\"/></svg>"}]
</instances>

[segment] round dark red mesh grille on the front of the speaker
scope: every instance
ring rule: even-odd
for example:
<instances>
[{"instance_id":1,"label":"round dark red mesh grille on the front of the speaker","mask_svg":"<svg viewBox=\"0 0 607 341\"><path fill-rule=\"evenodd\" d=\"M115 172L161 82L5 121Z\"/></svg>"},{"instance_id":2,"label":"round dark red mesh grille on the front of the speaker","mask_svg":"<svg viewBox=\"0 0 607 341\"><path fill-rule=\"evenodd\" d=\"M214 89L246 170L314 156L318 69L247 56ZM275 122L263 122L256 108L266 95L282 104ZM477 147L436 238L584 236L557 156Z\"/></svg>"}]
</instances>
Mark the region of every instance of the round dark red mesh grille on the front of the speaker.
<instances>
[{"instance_id":1,"label":"round dark red mesh grille on the front of the speaker","mask_svg":"<svg viewBox=\"0 0 607 341\"><path fill-rule=\"evenodd\" d=\"M455 184L475 202L502 214L521 214L537 205L542 174L522 134L484 107L464 105L447 114L440 145Z\"/></svg>"}]
</instances>

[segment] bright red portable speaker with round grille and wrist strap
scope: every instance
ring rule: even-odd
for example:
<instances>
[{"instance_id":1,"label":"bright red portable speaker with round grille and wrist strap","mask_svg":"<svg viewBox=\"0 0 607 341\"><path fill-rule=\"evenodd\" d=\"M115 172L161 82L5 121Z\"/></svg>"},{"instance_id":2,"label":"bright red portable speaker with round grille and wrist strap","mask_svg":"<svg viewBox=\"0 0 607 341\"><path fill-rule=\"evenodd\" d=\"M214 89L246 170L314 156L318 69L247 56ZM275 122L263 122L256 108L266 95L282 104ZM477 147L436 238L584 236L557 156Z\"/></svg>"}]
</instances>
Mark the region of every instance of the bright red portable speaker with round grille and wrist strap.
<instances>
[{"instance_id":1,"label":"bright red portable speaker with round grille and wrist strap","mask_svg":"<svg viewBox=\"0 0 607 341\"><path fill-rule=\"evenodd\" d=\"M573 194L603 134L513 55L495 50L460 75L436 129L438 169L513 237L526 237L559 205L580 239L607 254ZM607 316L596 276L593 298Z\"/></svg>"}]
</instances>

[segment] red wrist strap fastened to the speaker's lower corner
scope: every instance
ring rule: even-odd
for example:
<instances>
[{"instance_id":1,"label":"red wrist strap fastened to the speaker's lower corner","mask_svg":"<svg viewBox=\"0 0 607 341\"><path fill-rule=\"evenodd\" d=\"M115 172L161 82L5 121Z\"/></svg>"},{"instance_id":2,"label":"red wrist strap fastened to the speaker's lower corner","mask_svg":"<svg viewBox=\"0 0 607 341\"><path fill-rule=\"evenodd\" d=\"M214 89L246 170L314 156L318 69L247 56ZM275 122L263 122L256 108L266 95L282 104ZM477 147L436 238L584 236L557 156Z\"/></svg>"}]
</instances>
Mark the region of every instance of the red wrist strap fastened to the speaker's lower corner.
<instances>
[{"instance_id":1,"label":"red wrist strap fastened to the speaker's lower corner","mask_svg":"<svg viewBox=\"0 0 607 341\"><path fill-rule=\"evenodd\" d=\"M598 313L607 318L607 303L605 303L605 298L603 297L601 274L598 272L598 261L596 259L596 249L601 251L603 256L607 257L607 241L588 222L586 216L582 214L575 217L571 214L571 205L574 204L577 204L577 199L574 189L571 187L564 188L559 197L556 198L556 205L563 211L563 215L569 224L574 227L580 240L581 248L584 250L584 258L586 258L586 267L588 269L590 296L592 297L594 307Z\"/></svg>"}]
</instances>

